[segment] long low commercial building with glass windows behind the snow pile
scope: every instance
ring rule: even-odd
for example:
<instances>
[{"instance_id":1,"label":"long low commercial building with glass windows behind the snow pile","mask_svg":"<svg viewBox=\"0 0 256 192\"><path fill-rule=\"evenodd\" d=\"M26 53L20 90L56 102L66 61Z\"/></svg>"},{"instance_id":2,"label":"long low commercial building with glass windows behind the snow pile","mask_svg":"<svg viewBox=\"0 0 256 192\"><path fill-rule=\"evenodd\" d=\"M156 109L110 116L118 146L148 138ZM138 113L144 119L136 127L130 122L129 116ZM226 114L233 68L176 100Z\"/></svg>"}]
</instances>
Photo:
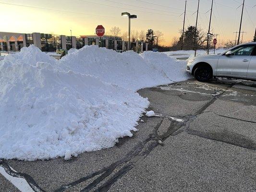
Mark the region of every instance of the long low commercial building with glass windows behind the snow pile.
<instances>
[{"instance_id":1,"label":"long low commercial building with glass windows behind the snow pile","mask_svg":"<svg viewBox=\"0 0 256 192\"><path fill-rule=\"evenodd\" d=\"M43 33L9 33L0 32L0 50L1 51L19 51L23 47L34 44L42 51L54 52L56 49L82 48L85 45L98 45L117 51L127 50L127 42L122 41L121 37L103 36L64 36ZM131 49L135 47L141 51L147 50L147 44L144 42L132 42Z\"/></svg>"}]
</instances>

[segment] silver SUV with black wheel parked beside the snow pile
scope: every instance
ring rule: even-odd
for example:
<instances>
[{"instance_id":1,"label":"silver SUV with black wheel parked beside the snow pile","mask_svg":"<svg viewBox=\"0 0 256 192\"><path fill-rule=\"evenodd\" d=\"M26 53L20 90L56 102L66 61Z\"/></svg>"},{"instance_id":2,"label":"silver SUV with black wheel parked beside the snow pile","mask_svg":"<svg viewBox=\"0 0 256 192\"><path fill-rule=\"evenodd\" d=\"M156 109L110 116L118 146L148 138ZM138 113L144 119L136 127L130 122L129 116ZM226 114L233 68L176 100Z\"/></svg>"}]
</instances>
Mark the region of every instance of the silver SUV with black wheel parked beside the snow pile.
<instances>
[{"instance_id":1,"label":"silver SUV with black wheel parked beside the snow pile","mask_svg":"<svg viewBox=\"0 0 256 192\"><path fill-rule=\"evenodd\" d=\"M218 55L189 58L186 71L198 81L215 76L256 80L256 42L240 44Z\"/></svg>"}]
</instances>

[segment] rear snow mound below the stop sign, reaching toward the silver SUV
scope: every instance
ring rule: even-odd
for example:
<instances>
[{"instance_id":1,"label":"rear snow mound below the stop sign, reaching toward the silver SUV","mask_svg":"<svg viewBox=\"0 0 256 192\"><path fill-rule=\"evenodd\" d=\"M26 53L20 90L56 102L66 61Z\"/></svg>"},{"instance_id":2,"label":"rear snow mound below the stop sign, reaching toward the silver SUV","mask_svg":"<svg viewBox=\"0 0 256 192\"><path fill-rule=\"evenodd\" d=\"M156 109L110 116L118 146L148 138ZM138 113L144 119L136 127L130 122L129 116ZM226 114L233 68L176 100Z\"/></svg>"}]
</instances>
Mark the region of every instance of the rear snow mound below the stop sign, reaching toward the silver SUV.
<instances>
[{"instance_id":1,"label":"rear snow mound below the stop sign, reaching toward the silver SUV","mask_svg":"<svg viewBox=\"0 0 256 192\"><path fill-rule=\"evenodd\" d=\"M134 51L118 53L98 46L85 46L63 57L60 64L66 71L95 75L104 82L118 84L134 91L159 84L170 84L174 76L176 80L179 77L182 77L180 81L184 80L186 75L183 63L179 65L181 63L177 60L166 57L166 65L163 65L161 57L166 55L155 52L150 55L156 62L149 62ZM176 67L179 69L176 73L163 74L163 71L172 71Z\"/></svg>"}]
</instances>

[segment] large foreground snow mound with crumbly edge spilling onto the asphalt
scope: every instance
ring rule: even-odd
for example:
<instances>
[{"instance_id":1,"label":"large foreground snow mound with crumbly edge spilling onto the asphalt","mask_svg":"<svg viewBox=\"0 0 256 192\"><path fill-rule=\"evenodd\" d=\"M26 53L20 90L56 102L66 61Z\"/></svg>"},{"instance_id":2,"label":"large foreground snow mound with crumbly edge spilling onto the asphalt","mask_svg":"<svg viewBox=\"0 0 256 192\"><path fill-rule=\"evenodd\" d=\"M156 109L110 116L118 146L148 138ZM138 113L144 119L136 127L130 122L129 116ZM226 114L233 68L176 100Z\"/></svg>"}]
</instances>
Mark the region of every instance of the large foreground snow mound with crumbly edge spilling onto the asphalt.
<instances>
[{"instance_id":1,"label":"large foreground snow mound with crumbly edge spilling onto the asphalt","mask_svg":"<svg viewBox=\"0 0 256 192\"><path fill-rule=\"evenodd\" d=\"M0 77L0 158L49 159L111 147L132 136L148 106L131 90L49 63L3 61Z\"/></svg>"}]
</instances>

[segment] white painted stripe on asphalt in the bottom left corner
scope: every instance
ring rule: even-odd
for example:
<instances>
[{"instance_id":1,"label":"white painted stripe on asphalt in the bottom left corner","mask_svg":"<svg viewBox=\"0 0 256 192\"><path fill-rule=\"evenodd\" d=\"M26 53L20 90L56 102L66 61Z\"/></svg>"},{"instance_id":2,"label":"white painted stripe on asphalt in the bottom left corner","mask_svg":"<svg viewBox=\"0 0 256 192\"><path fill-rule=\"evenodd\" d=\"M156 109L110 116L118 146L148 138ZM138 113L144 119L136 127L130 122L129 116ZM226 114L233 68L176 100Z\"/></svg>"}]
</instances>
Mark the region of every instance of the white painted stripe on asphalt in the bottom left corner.
<instances>
[{"instance_id":1,"label":"white painted stripe on asphalt in the bottom left corner","mask_svg":"<svg viewBox=\"0 0 256 192\"><path fill-rule=\"evenodd\" d=\"M10 167L11 168L11 167ZM14 172L17 173L13 168L11 168ZM0 174L2 174L7 180L9 180L16 188L18 188L21 192L35 192L27 183L24 178L13 177L9 175L5 169L0 166Z\"/></svg>"}]
</instances>

